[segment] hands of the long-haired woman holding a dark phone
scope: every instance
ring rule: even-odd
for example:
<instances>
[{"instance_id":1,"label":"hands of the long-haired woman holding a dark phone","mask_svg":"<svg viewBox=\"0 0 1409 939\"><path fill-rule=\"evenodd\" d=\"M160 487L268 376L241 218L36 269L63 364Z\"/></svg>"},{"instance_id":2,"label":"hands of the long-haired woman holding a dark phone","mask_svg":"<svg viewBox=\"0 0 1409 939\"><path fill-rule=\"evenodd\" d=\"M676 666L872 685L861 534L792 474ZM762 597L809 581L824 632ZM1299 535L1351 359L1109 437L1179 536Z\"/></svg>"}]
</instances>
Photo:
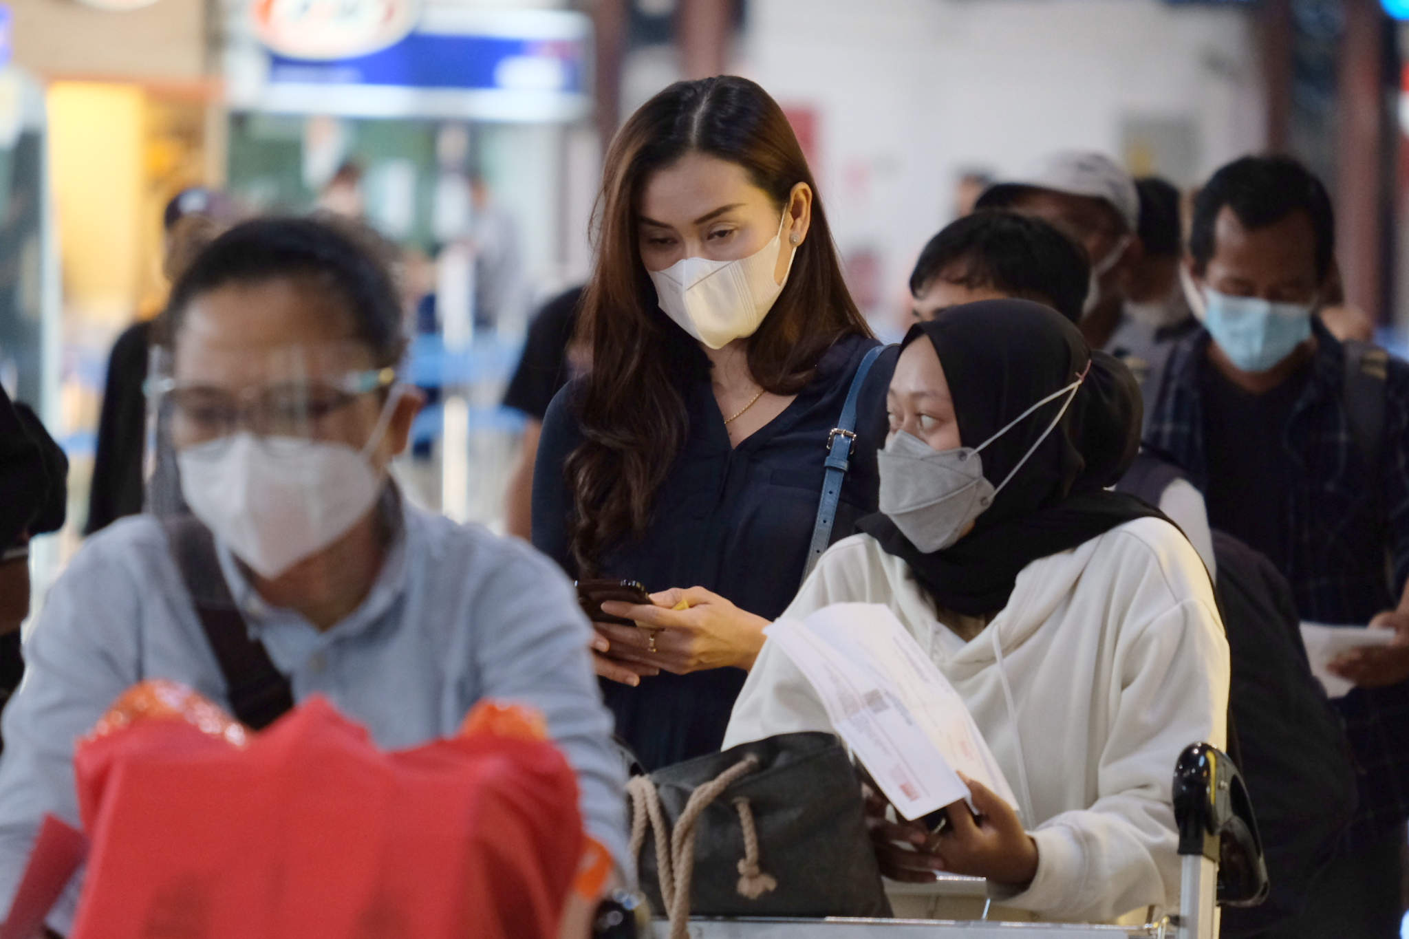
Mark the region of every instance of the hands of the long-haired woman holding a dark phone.
<instances>
[{"instance_id":1,"label":"hands of the long-haired woman holding a dark phone","mask_svg":"<svg viewBox=\"0 0 1409 939\"><path fill-rule=\"evenodd\" d=\"M768 621L703 587L651 594L652 605L604 603L602 611L637 626L599 624L610 656L674 674L734 666L750 669L764 648ZM688 604L688 608L678 608Z\"/></svg>"}]
</instances>

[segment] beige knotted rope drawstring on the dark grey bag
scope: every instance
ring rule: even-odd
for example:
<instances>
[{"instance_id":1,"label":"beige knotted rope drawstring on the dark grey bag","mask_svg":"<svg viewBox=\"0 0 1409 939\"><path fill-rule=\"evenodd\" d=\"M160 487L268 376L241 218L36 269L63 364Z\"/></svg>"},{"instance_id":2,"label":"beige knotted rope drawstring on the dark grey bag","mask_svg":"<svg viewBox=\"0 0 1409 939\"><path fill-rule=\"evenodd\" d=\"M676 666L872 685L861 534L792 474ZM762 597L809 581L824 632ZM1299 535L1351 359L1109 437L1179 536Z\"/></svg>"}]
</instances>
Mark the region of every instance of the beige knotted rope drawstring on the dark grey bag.
<instances>
[{"instance_id":1,"label":"beige knotted rope drawstring on the dark grey bag","mask_svg":"<svg viewBox=\"0 0 1409 939\"><path fill-rule=\"evenodd\" d=\"M671 939L688 939L690 919L690 883L695 876L695 831L699 817L738 779L758 769L758 757L747 756L709 783L704 783L685 802L685 809L669 829L661 794L650 776L633 777L626 787L631 798L631 856L640 857L645 846L647 828L655 829L655 867L661 884L661 900L671 919ZM758 900L776 890L778 881L759 866L758 828L747 798L733 800L738 824L744 831L744 857L738 862L738 893Z\"/></svg>"}]
</instances>

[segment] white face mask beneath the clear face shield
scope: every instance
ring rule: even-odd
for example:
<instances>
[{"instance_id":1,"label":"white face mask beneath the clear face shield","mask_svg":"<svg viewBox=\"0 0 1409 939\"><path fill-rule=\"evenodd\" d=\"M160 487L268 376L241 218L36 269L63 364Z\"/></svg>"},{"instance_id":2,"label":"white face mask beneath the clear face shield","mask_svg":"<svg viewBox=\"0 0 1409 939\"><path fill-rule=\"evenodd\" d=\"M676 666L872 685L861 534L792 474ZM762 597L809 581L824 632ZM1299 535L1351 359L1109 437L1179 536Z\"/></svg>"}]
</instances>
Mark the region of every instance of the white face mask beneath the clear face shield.
<instances>
[{"instance_id":1,"label":"white face mask beneath the clear face shield","mask_svg":"<svg viewBox=\"0 0 1409 939\"><path fill-rule=\"evenodd\" d=\"M361 450L248 431L179 450L182 494L235 557L272 580L345 535L376 504L382 479L369 458L399 398L393 387Z\"/></svg>"}]
</instances>

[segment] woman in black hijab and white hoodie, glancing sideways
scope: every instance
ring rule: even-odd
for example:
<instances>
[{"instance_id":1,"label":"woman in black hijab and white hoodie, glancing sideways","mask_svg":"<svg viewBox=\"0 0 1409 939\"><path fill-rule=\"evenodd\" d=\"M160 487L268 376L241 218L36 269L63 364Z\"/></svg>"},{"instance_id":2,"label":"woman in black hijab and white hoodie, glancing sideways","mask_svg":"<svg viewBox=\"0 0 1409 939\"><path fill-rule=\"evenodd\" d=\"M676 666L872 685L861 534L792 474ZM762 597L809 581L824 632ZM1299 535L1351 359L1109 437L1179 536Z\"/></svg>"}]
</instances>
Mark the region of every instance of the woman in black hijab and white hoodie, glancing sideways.
<instances>
[{"instance_id":1,"label":"woman in black hijab and white hoodie, glancing sideways","mask_svg":"<svg viewBox=\"0 0 1409 939\"><path fill-rule=\"evenodd\" d=\"M1229 657L1208 573L1158 511L1110 493L1138 445L1134 382L1060 314L954 307L906 338L878 455L881 508L834 545L783 619L883 604L964 700L1013 800L969 783L947 833L885 821L883 873L991 881L1002 918L1119 921L1178 902L1171 779L1224 742ZM766 643L724 746L831 731ZM971 918L892 894L898 915ZM962 902L962 901L958 901Z\"/></svg>"}]
</instances>

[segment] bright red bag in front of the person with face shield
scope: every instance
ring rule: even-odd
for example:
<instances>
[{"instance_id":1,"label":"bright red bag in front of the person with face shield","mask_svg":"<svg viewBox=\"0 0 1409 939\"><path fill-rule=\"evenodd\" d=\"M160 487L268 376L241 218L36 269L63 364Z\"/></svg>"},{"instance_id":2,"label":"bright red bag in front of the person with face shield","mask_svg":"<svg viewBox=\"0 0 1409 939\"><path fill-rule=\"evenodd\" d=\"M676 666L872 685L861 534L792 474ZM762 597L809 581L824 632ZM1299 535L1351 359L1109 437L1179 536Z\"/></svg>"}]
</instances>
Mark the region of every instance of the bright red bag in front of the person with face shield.
<instances>
[{"instance_id":1,"label":"bright red bag in front of the person with face shield","mask_svg":"<svg viewBox=\"0 0 1409 939\"><path fill-rule=\"evenodd\" d=\"M139 694L75 756L92 850L70 939L557 935L585 842L534 717L482 704L461 736L383 753L321 698L255 735L185 690Z\"/></svg>"}]
</instances>

